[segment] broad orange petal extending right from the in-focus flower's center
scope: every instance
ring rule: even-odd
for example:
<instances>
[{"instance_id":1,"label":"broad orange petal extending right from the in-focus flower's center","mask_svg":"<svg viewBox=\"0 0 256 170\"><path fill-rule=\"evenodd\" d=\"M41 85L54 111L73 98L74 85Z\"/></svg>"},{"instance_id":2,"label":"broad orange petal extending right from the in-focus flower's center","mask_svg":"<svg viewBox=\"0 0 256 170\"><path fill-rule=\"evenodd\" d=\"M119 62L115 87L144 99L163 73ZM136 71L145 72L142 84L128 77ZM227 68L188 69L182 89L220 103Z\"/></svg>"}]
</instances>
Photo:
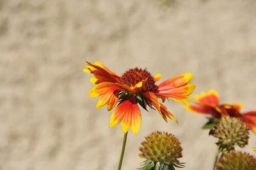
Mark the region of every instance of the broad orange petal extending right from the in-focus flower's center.
<instances>
[{"instance_id":1,"label":"broad orange petal extending right from the in-focus flower's center","mask_svg":"<svg viewBox=\"0 0 256 170\"><path fill-rule=\"evenodd\" d=\"M162 82L158 85L157 97L170 97L185 104L185 102L188 102L188 96L195 89L194 84L188 84L192 78L192 73L183 73Z\"/></svg>"}]
</instances>

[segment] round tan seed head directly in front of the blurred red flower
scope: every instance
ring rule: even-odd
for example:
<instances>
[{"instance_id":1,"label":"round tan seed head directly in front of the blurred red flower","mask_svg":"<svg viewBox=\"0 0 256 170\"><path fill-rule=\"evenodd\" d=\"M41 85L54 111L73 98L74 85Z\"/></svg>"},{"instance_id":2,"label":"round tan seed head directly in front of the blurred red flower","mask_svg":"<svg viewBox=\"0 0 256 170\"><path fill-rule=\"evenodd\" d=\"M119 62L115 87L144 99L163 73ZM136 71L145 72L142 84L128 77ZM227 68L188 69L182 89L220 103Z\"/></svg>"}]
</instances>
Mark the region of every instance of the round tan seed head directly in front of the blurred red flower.
<instances>
[{"instance_id":1,"label":"round tan seed head directly in front of the blurred red flower","mask_svg":"<svg viewBox=\"0 0 256 170\"><path fill-rule=\"evenodd\" d=\"M248 144L249 128L239 118L225 116L216 123L209 134L219 139L216 144L220 151L230 151L234 150L236 145L244 148Z\"/></svg>"}]
</instances>

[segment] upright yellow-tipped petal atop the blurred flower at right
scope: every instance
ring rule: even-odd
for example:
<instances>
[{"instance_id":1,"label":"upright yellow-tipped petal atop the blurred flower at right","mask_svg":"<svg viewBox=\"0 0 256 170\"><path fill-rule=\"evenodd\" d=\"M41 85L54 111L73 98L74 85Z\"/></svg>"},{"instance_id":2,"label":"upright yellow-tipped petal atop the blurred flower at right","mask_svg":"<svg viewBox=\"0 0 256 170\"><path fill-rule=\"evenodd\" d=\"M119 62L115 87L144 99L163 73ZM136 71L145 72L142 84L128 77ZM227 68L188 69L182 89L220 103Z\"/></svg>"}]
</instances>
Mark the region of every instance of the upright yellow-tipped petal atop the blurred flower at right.
<instances>
[{"instance_id":1,"label":"upright yellow-tipped petal atop the blurred flower at right","mask_svg":"<svg viewBox=\"0 0 256 170\"><path fill-rule=\"evenodd\" d=\"M214 89L210 89L208 93L202 91L200 95L195 95L196 102L202 105L219 105L219 95Z\"/></svg>"}]
</instances>

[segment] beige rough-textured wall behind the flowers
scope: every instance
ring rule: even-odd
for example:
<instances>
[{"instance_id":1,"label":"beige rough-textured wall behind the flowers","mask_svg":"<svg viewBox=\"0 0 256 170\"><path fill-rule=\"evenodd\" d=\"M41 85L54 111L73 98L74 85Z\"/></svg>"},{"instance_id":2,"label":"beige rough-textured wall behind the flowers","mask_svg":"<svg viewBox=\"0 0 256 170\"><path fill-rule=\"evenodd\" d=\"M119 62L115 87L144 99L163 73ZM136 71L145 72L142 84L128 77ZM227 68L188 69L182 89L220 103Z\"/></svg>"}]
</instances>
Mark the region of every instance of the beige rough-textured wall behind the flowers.
<instances>
[{"instance_id":1,"label":"beige rough-textured wall behind the flowers","mask_svg":"<svg viewBox=\"0 0 256 170\"><path fill-rule=\"evenodd\" d=\"M147 67L161 81L192 72L196 93L214 88L222 102L256 109L255 9L254 0L0 0L0 169L116 169L123 134L88 97L83 61L118 74ZM180 139L185 169L212 169L205 117L167 106L179 125L143 111L123 169L138 167L140 142L154 130ZM255 134L244 150L253 145Z\"/></svg>"}]
</instances>

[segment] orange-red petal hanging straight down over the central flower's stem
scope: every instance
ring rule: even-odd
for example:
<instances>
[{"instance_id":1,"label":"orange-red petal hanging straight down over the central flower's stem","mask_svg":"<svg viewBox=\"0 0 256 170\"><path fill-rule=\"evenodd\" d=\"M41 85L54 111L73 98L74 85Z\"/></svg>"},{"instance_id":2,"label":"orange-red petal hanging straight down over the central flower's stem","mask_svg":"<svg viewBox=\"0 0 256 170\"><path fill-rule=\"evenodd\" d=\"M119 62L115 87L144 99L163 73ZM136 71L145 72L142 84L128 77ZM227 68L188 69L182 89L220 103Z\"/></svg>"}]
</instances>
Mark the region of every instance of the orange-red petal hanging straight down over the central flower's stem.
<instances>
[{"instance_id":1,"label":"orange-red petal hanging straight down over the central flower's stem","mask_svg":"<svg viewBox=\"0 0 256 170\"><path fill-rule=\"evenodd\" d=\"M129 127L131 127L134 134L140 129L141 113L135 97L131 97L129 100L124 100L116 106L111 114L109 127L115 127L121 121L124 133L129 130Z\"/></svg>"}]
</instances>

